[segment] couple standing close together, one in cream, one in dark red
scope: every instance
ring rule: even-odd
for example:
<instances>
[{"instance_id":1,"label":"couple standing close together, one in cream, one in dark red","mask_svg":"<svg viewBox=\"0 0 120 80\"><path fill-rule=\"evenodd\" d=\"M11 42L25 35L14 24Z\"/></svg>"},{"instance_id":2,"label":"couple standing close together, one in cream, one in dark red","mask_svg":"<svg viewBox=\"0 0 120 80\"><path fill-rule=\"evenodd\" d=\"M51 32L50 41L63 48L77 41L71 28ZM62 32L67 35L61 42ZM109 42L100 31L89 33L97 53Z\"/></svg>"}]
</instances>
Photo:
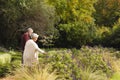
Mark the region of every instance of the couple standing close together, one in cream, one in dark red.
<instances>
[{"instance_id":1,"label":"couple standing close together, one in cream, one in dark red","mask_svg":"<svg viewBox=\"0 0 120 80\"><path fill-rule=\"evenodd\" d=\"M33 64L37 64L38 53L45 53L36 44L38 36L38 34L33 33L32 28L28 28L26 33L22 35L22 64L25 66L32 66Z\"/></svg>"}]
</instances>

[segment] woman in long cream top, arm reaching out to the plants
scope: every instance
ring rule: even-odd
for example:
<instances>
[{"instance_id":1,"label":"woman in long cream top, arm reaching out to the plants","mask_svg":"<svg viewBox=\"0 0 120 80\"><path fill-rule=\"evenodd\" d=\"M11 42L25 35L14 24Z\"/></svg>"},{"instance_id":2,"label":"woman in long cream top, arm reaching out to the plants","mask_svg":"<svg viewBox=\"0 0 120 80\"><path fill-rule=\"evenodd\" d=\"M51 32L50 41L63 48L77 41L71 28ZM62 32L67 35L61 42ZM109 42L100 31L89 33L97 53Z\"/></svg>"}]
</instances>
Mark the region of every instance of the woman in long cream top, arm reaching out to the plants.
<instances>
[{"instance_id":1,"label":"woman in long cream top, arm reaching out to the plants","mask_svg":"<svg viewBox=\"0 0 120 80\"><path fill-rule=\"evenodd\" d=\"M37 64L38 63L38 53L40 53L40 52L45 53L36 44L38 35L36 33L33 33L31 35L31 38L32 39L30 39L26 42L24 53L23 53L23 64L25 66L33 66L33 64Z\"/></svg>"}]
</instances>

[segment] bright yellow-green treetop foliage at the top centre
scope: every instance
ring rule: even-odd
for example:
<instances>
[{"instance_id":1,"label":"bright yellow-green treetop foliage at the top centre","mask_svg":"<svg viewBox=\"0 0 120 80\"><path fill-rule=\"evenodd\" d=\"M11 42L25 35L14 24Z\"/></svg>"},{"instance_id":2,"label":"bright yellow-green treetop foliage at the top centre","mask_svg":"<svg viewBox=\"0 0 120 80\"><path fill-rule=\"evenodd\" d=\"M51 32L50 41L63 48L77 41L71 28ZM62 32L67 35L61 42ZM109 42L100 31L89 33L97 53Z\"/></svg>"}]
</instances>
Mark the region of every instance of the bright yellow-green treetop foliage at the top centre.
<instances>
[{"instance_id":1,"label":"bright yellow-green treetop foliage at the top centre","mask_svg":"<svg viewBox=\"0 0 120 80\"><path fill-rule=\"evenodd\" d=\"M93 20L91 15L95 11L93 4L96 0L48 0L48 2L55 6L56 14L62 23Z\"/></svg>"}]
</instances>

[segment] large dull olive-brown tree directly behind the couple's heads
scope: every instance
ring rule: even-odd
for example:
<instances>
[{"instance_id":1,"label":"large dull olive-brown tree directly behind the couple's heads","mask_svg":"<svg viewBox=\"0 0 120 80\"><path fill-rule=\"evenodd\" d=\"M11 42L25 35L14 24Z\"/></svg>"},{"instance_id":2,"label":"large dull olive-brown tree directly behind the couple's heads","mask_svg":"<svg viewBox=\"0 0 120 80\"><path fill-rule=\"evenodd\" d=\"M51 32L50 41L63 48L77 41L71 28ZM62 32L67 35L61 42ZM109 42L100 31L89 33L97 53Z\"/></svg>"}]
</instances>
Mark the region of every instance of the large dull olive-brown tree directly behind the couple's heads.
<instances>
[{"instance_id":1,"label":"large dull olive-brown tree directly behind the couple's heads","mask_svg":"<svg viewBox=\"0 0 120 80\"><path fill-rule=\"evenodd\" d=\"M54 7L46 0L0 0L0 17L0 42L4 45L18 46L21 31L28 27L41 35L53 34Z\"/></svg>"}]
</instances>

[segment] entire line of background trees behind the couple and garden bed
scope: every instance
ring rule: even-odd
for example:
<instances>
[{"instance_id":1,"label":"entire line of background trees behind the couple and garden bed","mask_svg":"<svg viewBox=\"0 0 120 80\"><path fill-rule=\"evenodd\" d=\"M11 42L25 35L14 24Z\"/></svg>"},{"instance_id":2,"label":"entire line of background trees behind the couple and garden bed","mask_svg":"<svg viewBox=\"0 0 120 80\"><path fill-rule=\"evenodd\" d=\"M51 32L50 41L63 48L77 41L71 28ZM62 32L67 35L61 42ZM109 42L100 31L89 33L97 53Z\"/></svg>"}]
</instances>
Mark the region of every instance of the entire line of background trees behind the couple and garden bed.
<instances>
[{"instance_id":1,"label":"entire line of background trees behind the couple and garden bed","mask_svg":"<svg viewBox=\"0 0 120 80\"><path fill-rule=\"evenodd\" d=\"M119 0L0 0L0 45L20 46L32 27L43 47L119 48Z\"/></svg>"}]
</instances>

